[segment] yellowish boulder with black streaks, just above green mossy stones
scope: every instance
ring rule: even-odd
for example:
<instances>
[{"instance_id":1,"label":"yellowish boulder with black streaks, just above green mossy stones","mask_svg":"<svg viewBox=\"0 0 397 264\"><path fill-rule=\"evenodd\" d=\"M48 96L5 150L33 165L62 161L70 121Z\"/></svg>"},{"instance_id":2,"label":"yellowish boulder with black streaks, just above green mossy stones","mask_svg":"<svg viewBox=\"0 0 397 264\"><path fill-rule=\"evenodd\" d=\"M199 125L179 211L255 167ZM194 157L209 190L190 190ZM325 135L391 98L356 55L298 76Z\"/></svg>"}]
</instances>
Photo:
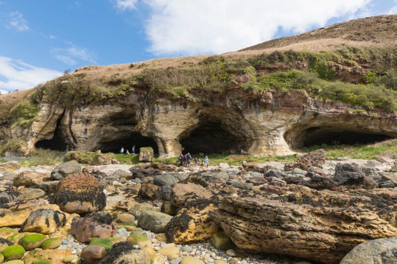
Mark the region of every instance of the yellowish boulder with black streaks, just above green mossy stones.
<instances>
[{"instance_id":1,"label":"yellowish boulder with black streaks, just above green mossy stones","mask_svg":"<svg viewBox=\"0 0 397 264\"><path fill-rule=\"evenodd\" d=\"M60 211L39 209L30 212L22 224L20 232L36 232L40 234L54 233L66 224L66 215Z\"/></svg>"}]
</instances>

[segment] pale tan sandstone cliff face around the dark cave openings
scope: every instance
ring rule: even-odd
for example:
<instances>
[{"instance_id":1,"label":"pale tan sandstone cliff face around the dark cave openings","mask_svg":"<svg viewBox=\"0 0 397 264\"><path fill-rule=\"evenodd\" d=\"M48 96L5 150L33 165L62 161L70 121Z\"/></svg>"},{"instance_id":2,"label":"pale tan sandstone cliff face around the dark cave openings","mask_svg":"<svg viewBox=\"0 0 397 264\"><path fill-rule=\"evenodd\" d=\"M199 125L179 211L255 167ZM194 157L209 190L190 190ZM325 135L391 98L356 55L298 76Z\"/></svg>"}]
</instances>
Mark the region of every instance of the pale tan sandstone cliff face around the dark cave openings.
<instances>
[{"instance_id":1,"label":"pale tan sandstone cliff face around the dark cave openings","mask_svg":"<svg viewBox=\"0 0 397 264\"><path fill-rule=\"evenodd\" d=\"M306 138L313 136L321 142L330 133L397 136L395 115L375 109L374 115L346 111L357 108L275 90L254 94L228 89L225 94L194 102L147 97L146 90L135 88L117 102L73 109L40 102L35 122L29 129L15 129L14 134L32 149L59 131L70 149L77 151L108 151L113 141L149 138L143 144L157 145L160 158L178 157L182 148L194 145L195 131L223 135L224 142L201 144L208 150L245 150L265 156L293 154ZM125 120L128 122L120 125Z\"/></svg>"}]
</instances>

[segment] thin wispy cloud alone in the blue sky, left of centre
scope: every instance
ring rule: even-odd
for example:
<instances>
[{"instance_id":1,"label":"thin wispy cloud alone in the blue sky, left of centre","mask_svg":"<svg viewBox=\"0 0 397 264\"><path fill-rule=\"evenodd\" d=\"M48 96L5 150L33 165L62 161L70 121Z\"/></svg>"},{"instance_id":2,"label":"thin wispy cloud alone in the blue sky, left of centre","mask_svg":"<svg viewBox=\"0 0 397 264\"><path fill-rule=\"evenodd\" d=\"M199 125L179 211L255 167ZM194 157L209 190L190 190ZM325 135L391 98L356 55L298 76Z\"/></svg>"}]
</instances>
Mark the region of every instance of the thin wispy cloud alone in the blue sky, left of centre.
<instances>
[{"instance_id":1,"label":"thin wispy cloud alone in the blue sky, left of centre","mask_svg":"<svg viewBox=\"0 0 397 264\"><path fill-rule=\"evenodd\" d=\"M95 64L96 54L82 47L78 47L71 42L66 42L66 48L51 49L53 57L61 60L65 64L75 65L78 61L88 61Z\"/></svg>"}]
</instances>

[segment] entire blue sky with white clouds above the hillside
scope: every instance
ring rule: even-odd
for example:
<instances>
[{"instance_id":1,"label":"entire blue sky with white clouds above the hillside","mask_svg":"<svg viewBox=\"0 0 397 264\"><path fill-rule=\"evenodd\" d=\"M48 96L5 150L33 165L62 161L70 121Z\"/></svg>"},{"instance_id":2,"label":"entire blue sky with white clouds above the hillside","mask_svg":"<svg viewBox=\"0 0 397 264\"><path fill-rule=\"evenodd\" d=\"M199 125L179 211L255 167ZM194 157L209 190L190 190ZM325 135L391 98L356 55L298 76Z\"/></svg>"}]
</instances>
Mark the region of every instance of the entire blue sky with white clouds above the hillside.
<instances>
[{"instance_id":1,"label":"entire blue sky with white clouds above the hillside","mask_svg":"<svg viewBox=\"0 0 397 264\"><path fill-rule=\"evenodd\" d=\"M0 91L84 65L235 51L387 13L396 0L0 0Z\"/></svg>"}]
</instances>

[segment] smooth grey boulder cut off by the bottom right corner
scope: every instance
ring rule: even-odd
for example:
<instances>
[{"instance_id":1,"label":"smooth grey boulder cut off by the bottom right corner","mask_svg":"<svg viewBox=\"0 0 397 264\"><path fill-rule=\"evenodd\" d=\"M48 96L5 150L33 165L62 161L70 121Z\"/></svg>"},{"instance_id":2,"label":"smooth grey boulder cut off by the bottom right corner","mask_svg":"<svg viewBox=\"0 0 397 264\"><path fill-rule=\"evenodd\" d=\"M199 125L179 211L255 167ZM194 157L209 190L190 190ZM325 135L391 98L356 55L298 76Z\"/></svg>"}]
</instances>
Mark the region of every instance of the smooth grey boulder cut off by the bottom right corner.
<instances>
[{"instance_id":1,"label":"smooth grey boulder cut off by the bottom right corner","mask_svg":"<svg viewBox=\"0 0 397 264\"><path fill-rule=\"evenodd\" d=\"M397 237L364 242L353 248L340 264L393 264L397 263Z\"/></svg>"}]
</instances>

